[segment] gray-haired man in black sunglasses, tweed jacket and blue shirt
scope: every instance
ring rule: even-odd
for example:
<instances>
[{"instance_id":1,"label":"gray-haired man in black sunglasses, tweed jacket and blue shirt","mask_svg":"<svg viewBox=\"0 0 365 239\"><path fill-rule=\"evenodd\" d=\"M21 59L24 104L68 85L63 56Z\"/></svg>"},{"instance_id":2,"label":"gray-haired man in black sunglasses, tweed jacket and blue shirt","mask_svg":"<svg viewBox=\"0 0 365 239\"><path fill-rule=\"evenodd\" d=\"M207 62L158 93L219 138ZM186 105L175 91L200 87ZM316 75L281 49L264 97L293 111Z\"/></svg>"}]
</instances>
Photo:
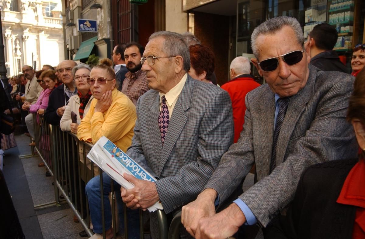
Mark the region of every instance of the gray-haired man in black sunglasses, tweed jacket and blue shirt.
<instances>
[{"instance_id":1,"label":"gray-haired man in black sunglasses, tweed jacket and blue shirt","mask_svg":"<svg viewBox=\"0 0 365 239\"><path fill-rule=\"evenodd\" d=\"M246 95L238 142L223 154L197 199L183 207L181 221L196 238L227 238L243 224L266 227L285 213L304 169L356 155L345 120L354 78L308 66L303 44L292 17L269 19L253 31L252 62L267 84ZM215 213L254 163L255 184Z\"/></svg>"}]
</instances>

